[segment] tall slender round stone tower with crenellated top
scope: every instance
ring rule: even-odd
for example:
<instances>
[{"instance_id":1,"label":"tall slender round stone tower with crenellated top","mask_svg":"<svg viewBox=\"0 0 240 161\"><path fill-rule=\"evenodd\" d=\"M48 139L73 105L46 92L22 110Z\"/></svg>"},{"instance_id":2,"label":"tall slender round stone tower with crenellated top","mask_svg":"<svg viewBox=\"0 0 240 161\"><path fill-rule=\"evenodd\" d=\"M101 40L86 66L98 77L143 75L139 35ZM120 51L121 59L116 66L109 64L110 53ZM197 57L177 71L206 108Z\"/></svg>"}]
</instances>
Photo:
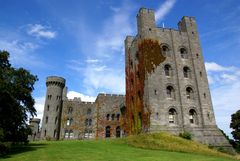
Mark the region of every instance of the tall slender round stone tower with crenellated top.
<instances>
[{"instance_id":1,"label":"tall slender round stone tower with crenellated top","mask_svg":"<svg viewBox=\"0 0 240 161\"><path fill-rule=\"evenodd\" d=\"M59 139L63 88L65 79L57 76L47 77L47 93L42 119L41 138Z\"/></svg>"}]
</instances>

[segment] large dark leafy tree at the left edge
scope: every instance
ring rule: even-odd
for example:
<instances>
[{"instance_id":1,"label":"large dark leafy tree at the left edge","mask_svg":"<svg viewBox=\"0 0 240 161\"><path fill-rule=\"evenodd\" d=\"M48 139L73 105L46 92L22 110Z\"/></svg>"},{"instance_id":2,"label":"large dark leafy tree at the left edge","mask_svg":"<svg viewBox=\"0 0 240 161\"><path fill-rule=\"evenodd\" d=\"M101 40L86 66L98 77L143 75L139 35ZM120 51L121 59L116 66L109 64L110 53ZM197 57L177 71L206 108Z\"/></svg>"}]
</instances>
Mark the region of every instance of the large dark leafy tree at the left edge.
<instances>
[{"instance_id":1,"label":"large dark leafy tree at the left edge","mask_svg":"<svg viewBox=\"0 0 240 161\"><path fill-rule=\"evenodd\" d=\"M28 116L36 115L31 93L38 79L23 68L13 68L8 59L9 53L0 51L0 141L25 142Z\"/></svg>"}]
</instances>

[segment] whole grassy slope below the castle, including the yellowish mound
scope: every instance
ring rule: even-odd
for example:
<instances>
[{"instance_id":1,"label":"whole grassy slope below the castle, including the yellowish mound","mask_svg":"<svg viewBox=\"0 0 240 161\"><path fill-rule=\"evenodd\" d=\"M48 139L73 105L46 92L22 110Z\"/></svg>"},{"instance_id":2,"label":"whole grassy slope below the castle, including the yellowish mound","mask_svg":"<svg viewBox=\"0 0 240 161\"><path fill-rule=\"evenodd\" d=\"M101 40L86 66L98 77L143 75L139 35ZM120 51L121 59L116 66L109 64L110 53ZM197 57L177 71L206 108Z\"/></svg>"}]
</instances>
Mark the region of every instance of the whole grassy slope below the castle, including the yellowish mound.
<instances>
[{"instance_id":1,"label":"whole grassy slope below the castle, including the yellowish mound","mask_svg":"<svg viewBox=\"0 0 240 161\"><path fill-rule=\"evenodd\" d=\"M165 133L124 139L41 141L0 159L6 161L233 161L231 156Z\"/></svg>"}]
</instances>

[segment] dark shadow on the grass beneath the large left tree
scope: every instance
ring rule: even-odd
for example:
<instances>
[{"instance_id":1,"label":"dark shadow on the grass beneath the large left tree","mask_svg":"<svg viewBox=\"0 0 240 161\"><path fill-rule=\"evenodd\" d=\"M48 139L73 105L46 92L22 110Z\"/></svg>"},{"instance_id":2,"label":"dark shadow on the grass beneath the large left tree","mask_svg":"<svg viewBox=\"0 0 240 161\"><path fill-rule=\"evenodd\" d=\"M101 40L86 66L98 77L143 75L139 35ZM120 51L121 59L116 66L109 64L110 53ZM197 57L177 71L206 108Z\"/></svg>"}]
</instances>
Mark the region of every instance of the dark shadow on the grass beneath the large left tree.
<instances>
[{"instance_id":1,"label":"dark shadow on the grass beneath the large left tree","mask_svg":"<svg viewBox=\"0 0 240 161\"><path fill-rule=\"evenodd\" d=\"M28 145L17 145L12 147L9 153L0 155L0 159L11 158L15 154L25 153L28 151L35 151L37 149L44 148L46 146L47 144L43 144L43 143L34 143L34 144L30 143Z\"/></svg>"}]
</instances>

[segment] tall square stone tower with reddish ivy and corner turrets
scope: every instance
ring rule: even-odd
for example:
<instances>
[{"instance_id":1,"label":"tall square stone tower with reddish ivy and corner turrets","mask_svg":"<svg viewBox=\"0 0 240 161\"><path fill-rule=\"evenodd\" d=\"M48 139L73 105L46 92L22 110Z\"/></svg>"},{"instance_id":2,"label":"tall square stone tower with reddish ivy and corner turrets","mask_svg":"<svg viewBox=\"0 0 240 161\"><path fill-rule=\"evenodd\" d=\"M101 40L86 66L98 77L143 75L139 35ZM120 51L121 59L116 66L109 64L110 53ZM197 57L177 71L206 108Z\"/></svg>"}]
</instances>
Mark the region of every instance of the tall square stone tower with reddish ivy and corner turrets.
<instances>
[{"instance_id":1,"label":"tall square stone tower with reddish ivy and corner turrets","mask_svg":"<svg viewBox=\"0 0 240 161\"><path fill-rule=\"evenodd\" d=\"M187 131L230 147L215 122L195 18L184 16L178 30L161 28L154 11L141 8L137 24L137 35L125 39L125 131Z\"/></svg>"}]
</instances>

